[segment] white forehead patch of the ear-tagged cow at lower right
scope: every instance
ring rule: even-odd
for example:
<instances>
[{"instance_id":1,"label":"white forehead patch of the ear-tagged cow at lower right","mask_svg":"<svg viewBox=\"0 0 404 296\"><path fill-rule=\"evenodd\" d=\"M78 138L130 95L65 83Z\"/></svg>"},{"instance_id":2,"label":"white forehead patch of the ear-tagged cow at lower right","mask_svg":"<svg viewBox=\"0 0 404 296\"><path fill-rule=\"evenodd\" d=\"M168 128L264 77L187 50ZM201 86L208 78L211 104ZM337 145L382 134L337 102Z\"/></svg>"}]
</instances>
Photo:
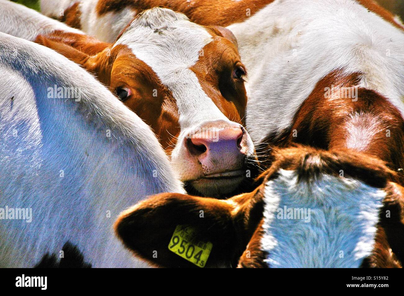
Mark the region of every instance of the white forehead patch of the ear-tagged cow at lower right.
<instances>
[{"instance_id":1,"label":"white forehead patch of the ear-tagged cow at lower right","mask_svg":"<svg viewBox=\"0 0 404 296\"><path fill-rule=\"evenodd\" d=\"M385 192L355 179L321 175L297 182L295 171L265 186L261 240L270 267L359 267L375 244ZM310 209L310 222L278 219L277 209Z\"/></svg>"}]
</instances>

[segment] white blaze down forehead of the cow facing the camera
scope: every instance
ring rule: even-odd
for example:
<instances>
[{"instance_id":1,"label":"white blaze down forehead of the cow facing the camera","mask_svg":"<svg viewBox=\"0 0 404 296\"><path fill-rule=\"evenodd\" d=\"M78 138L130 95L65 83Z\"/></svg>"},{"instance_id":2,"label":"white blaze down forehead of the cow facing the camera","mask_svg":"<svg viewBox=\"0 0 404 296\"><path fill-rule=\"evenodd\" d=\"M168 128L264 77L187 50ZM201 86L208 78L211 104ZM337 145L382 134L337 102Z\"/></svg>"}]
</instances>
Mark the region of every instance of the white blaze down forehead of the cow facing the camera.
<instances>
[{"instance_id":1,"label":"white blaze down forehead of the cow facing the camera","mask_svg":"<svg viewBox=\"0 0 404 296\"><path fill-rule=\"evenodd\" d=\"M189 69L198 61L202 48L212 41L204 27L192 23L182 13L156 7L139 15L115 46L128 46L137 58L151 67L173 93L179 124L187 129L202 121L228 120Z\"/></svg>"}]
</instances>

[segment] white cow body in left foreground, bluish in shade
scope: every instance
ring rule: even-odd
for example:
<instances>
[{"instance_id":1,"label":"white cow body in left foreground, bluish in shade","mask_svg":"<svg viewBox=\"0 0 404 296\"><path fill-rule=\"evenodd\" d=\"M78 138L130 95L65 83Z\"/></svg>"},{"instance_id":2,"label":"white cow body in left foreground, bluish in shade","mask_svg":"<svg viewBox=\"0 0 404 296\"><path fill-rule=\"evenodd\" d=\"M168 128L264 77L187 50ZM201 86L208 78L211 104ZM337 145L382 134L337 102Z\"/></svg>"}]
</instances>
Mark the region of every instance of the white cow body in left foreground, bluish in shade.
<instances>
[{"instance_id":1,"label":"white cow body in left foreground, bluish in shade","mask_svg":"<svg viewBox=\"0 0 404 296\"><path fill-rule=\"evenodd\" d=\"M79 65L0 40L0 267L74 250L87 266L145 266L112 226L145 196L185 193L156 136Z\"/></svg>"}]
</instances>

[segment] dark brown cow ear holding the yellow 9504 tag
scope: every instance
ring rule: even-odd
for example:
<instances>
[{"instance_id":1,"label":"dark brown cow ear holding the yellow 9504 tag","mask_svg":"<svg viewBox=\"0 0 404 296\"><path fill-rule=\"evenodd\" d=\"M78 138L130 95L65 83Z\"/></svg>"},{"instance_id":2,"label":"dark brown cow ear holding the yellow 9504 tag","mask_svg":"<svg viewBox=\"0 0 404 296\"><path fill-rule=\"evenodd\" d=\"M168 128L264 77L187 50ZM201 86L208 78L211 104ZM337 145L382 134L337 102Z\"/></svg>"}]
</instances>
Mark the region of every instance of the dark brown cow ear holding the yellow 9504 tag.
<instances>
[{"instance_id":1,"label":"dark brown cow ear holding the yellow 9504 tag","mask_svg":"<svg viewBox=\"0 0 404 296\"><path fill-rule=\"evenodd\" d=\"M129 250L158 267L235 266L238 258L234 258L236 231L231 215L233 210L234 203L224 200L176 193L159 194L121 213L115 230ZM179 229L185 229L181 227L194 231L192 243L187 241L189 238L184 233L177 238L173 236L175 231L178 233ZM195 246L205 246L206 250L209 242L213 247L208 259L204 256L198 258L194 250L199 252L199 249ZM194 246L190 247L190 244ZM172 250L182 251L199 265ZM201 263L203 259L206 261Z\"/></svg>"}]
</instances>

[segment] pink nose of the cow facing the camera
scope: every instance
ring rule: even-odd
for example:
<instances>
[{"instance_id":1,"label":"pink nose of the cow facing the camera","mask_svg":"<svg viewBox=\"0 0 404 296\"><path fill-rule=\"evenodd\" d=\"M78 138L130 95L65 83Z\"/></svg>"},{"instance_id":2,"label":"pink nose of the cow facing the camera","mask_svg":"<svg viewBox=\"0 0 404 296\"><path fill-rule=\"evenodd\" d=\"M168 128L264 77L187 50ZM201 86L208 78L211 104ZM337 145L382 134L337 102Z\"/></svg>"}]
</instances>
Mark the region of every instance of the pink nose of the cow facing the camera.
<instances>
[{"instance_id":1,"label":"pink nose of the cow facing the camera","mask_svg":"<svg viewBox=\"0 0 404 296\"><path fill-rule=\"evenodd\" d=\"M204 175L240 170L248 150L247 132L241 125L198 129L187 139L189 161L199 163Z\"/></svg>"}]
</instances>

